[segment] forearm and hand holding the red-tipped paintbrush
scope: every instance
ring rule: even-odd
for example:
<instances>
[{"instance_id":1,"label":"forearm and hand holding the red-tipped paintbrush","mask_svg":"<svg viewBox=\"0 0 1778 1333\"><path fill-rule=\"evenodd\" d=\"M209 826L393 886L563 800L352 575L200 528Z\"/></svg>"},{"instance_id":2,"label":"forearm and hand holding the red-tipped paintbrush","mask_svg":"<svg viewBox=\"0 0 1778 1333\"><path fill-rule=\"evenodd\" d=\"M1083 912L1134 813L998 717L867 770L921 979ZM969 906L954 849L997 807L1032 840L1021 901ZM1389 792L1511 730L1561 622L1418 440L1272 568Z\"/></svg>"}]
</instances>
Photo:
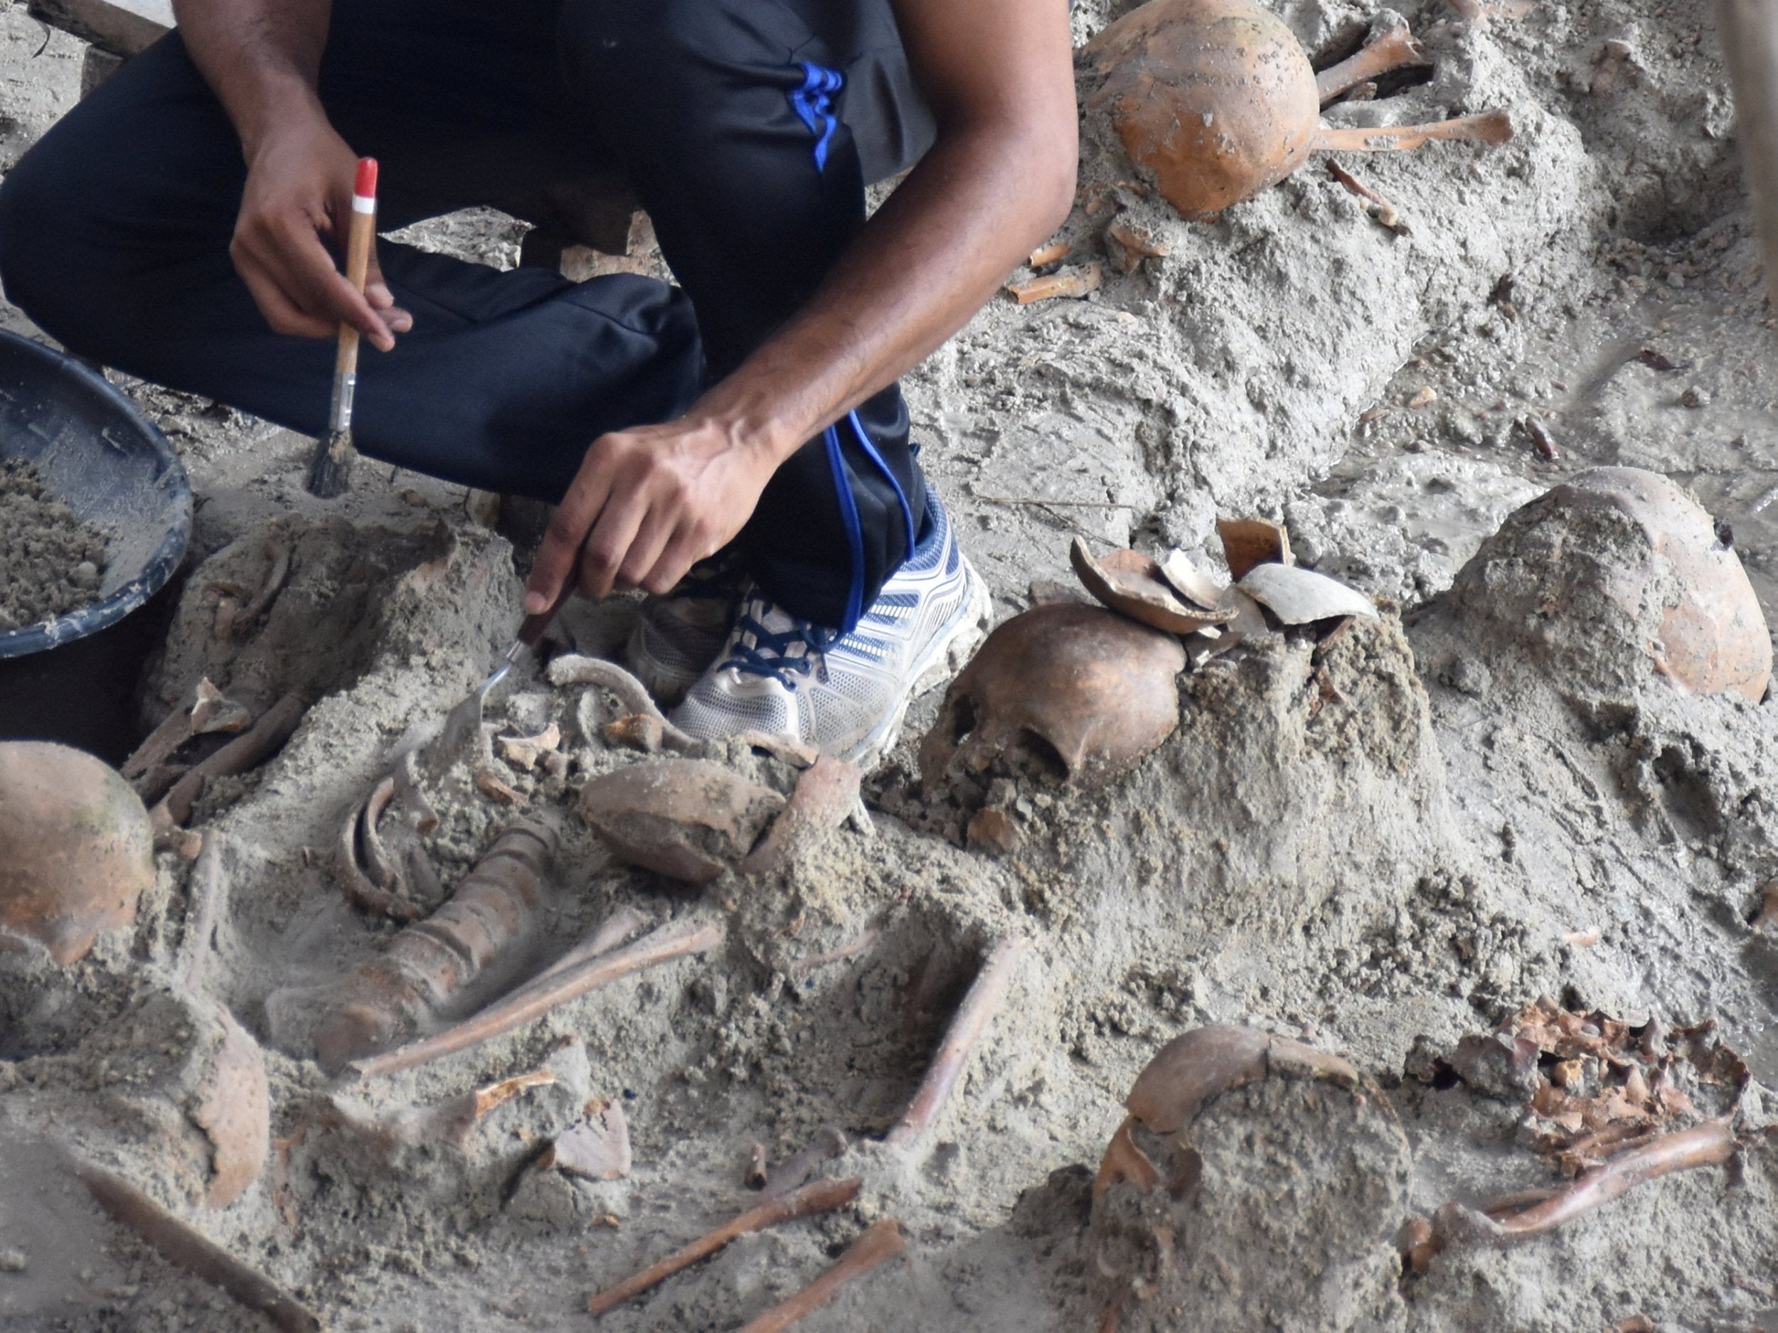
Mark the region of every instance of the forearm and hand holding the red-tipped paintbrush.
<instances>
[{"instance_id":1,"label":"forearm and hand holding the red-tipped paintbrush","mask_svg":"<svg viewBox=\"0 0 1778 1333\"><path fill-rule=\"evenodd\" d=\"M345 322L389 350L412 320L375 259L361 297L320 240L350 213L357 164L315 92L332 0L174 0L172 12L240 133L247 187L229 254L267 322L308 338Z\"/></svg>"}]
</instances>

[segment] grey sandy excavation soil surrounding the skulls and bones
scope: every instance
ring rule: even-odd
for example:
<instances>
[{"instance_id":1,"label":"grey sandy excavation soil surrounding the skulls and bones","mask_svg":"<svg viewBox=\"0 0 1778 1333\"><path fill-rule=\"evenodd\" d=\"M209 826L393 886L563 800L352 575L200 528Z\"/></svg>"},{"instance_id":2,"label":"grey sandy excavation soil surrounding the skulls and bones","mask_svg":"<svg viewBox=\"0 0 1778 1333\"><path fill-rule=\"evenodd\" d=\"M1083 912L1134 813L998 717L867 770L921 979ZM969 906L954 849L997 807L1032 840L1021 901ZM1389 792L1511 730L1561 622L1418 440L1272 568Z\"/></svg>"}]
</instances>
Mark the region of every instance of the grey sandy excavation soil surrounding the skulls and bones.
<instances>
[{"instance_id":1,"label":"grey sandy excavation soil surrounding the skulls and bones","mask_svg":"<svg viewBox=\"0 0 1778 1333\"><path fill-rule=\"evenodd\" d=\"M1374 18L1346 0L1278 9L1317 53ZM247 1319L100 1219L52 1139L331 1328L525 1329L590 1326L592 1290L756 1201L756 1143L775 1164L839 1130L823 1169L862 1180L855 1203L743 1239L599 1326L740 1328L894 1217L907 1257L800 1328L1099 1328L1127 1281L1127 1235L1104 1210L1090 1221L1122 1100L1170 1038L1241 1022L1344 1054L1362 1098L1266 1081L1216 1102L1193 1130L1202 1182L1166 1223L1181 1264L1127 1328L1778 1328L1778 953L1750 924L1778 878L1778 709L1677 691L1646 663L1646 627L1588 619L1581 599L1549 610L1552 638L1531 651L1502 610L1536 594L1518 539L1485 546L1577 471L1648 467L1732 526L1774 608L1778 391L1709 11L1591 0L1486 27L1438 4L1403 12L1431 76L1330 119L1508 107L1518 126L1499 149L1348 160L1408 235L1317 162L1188 226L1088 116L1065 263L1106 263L1113 217L1168 252L1108 265L1085 300L996 300L909 380L925 462L999 617L1033 581L1070 579L1074 535L1218 567L1214 517L1266 514L1305 563L1376 595L1382 620L1268 635L1184 674L1177 729L1109 780L1061 784L1012 754L983 782L925 789L928 697L866 782L868 819L702 889L608 855L578 793L640 762L605 730L624 709L528 666L475 752L391 805L396 851L418 846L437 876L404 862L425 908L517 814L560 839L517 942L416 1024L450 1022L622 908L718 924L724 942L411 1072L329 1075L313 1058L341 985L395 935L341 894L334 846L503 647L514 551L455 487L363 469L324 505L300 489L306 441L130 386L201 496L144 718L199 677L254 711L292 690L315 702L277 759L206 791L204 857L162 857L135 931L66 972L0 954L0 1312L80 1329ZM1076 7L1083 39L1106 18ZM0 34L16 155L73 96L78 46L36 55L41 28L16 4ZM516 227L487 213L421 235L514 261ZM1629 558L1575 540L1604 565ZM222 611L274 585L254 617ZM629 615L576 608L564 631L603 652ZM551 725L565 773L498 746ZM777 794L797 777L747 746L717 759ZM958 846L987 807L1015 830L1003 855ZM1008 1002L932 1136L893 1148L951 1011L1010 935L1026 949ZM1549 1235L1458 1242L1405 1271L1408 1217L1559 1184L1522 1090L1456 1058L1545 995L1638 1040L1714 1020L1751 1077L1742 1152ZM194 1111L231 1024L263 1052L272 1152L212 1207L217 1145ZM539 1070L553 1082L441 1129L452 1098ZM1723 1109L1693 1091L1675 1123ZM628 1121L621 1178L539 1166L589 1102Z\"/></svg>"}]
</instances>

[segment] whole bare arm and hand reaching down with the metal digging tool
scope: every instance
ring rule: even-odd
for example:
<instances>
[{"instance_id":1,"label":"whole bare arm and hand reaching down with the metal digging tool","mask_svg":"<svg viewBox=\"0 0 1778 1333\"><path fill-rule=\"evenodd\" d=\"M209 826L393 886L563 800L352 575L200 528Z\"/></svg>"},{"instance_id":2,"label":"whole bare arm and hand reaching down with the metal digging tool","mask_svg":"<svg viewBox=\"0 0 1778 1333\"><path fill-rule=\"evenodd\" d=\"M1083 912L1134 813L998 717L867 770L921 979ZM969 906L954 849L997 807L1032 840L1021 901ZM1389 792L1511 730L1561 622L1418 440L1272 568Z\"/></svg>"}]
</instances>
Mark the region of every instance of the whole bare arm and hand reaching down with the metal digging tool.
<instances>
[{"instance_id":1,"label":"whole bare arm and hand reaching down with the metal digging tool","mask_svg":"<svg viewBox=\"0 0 1778 1333\"><path fill-rule=\"evenodd\" d=\"M665 592L734 537L804 441L960 329L1067 217L1077 156L1063 0L894 0L932 151L809 304L686 416L603 435L539 551L528 610Z\"/></svg>"}]
</instances>

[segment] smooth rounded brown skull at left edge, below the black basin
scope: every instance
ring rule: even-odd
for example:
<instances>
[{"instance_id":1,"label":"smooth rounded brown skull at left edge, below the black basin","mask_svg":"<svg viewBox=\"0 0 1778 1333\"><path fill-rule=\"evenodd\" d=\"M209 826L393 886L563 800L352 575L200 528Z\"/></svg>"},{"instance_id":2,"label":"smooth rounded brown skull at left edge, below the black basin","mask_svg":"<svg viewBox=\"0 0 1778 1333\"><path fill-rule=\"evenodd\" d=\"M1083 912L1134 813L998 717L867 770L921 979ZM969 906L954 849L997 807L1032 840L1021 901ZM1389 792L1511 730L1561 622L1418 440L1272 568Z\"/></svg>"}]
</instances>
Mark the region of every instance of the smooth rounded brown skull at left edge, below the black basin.
<instances>
[{"instance_id":1,"label":"smooth rounded brown skull at left edge, below the black basin","mask_svg":"<svg viewBox=\"0 0 1778 1333\"><path fill-rule=\"evenodd\" d=\"M155 882L148 810L110 766L46 741L0 741L0 947L39 940L62 965L135 921Z\"/></svg>"}]
</instances>

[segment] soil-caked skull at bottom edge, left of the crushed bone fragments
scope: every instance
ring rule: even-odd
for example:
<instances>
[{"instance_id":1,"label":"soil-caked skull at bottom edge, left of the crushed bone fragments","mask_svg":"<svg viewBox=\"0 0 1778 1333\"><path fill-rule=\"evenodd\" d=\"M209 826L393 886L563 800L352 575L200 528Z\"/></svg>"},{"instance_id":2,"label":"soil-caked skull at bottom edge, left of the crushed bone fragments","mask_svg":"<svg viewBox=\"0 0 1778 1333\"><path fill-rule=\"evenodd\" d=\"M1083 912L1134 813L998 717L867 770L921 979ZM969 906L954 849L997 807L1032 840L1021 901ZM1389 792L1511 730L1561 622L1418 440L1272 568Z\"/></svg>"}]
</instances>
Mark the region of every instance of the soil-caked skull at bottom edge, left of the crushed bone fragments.
<instances>
[{"instance_id":1,"label":"soil-caked skull at bottom edge, left of the crushed bone fragments","mask_svg":"<svg viewBox=\"0 0 1778 1333\"><path fill-rule=\"evenodd\" d=\"M1127 1106L1090 1232L1122 1333L1170 1333L1181 1308L1214 1333L1399 1326L1412 1153L1346 1061L1198 1027L1161 1047Z\"/></svg>"}]
</instances>

